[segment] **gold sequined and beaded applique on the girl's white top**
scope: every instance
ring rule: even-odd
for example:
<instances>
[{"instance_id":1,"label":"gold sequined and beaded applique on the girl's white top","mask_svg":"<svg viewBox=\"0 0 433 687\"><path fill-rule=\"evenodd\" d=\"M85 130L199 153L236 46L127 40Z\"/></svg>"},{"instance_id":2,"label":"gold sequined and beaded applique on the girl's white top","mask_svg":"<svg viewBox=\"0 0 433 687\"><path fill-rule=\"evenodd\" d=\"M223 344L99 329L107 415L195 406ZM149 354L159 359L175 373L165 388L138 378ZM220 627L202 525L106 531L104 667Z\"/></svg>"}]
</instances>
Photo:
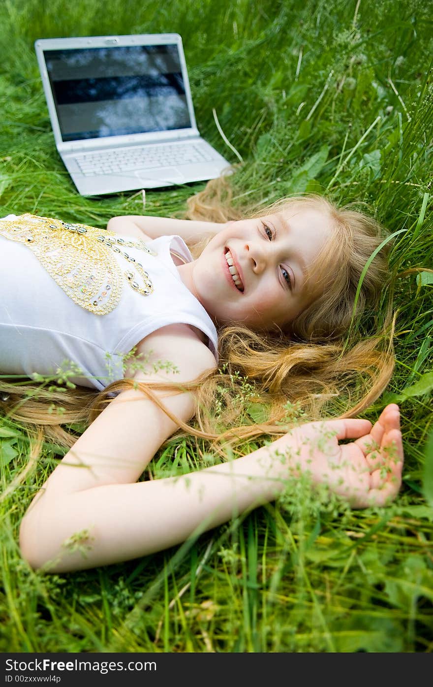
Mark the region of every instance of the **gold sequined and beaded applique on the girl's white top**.
<instances>
[{"instance_id":1,"label":"gold sequined and beaded applique on the girl's white top","mask_svg":"<svg viewBox=\"0 0 433 687\"><path fill-rule=\"evenodd\" d=\"M152 280L141 262L123 250L125 247L138 248L156 256L142 240L130 241L107 229L28 213L1 220L0 234L29 247L73 302L95 315L106 315L114 310L121 298L124 277L131 288L142 295L153 291ZM123 275L113 252L130 263L130 269ZM131 267L141 276L143 286Z\"/></svg>"}]
</instances>

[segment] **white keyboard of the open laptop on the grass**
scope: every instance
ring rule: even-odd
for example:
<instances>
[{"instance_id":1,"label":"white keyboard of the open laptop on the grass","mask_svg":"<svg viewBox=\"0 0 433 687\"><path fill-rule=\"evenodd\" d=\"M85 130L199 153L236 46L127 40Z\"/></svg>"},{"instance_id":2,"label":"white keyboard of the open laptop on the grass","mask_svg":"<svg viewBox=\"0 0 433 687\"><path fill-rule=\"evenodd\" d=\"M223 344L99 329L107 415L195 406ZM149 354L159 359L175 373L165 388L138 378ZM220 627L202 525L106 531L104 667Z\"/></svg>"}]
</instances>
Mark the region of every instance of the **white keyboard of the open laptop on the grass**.
<instances>
[{"instance_id":1,"label":"white keyboard of the open laptop on the grass","mask_svg":"<svg viewBox=\"0 0 433 687\"><path fill-rule=\"evenodd\" d=\"M86 153L75 157L75 161L86 177L197 164L209 162L211 159L213 159L212 151L207 146L201 146L200 143L137 146L105 150L101 153Z\"/></svg>"}]
</instances>

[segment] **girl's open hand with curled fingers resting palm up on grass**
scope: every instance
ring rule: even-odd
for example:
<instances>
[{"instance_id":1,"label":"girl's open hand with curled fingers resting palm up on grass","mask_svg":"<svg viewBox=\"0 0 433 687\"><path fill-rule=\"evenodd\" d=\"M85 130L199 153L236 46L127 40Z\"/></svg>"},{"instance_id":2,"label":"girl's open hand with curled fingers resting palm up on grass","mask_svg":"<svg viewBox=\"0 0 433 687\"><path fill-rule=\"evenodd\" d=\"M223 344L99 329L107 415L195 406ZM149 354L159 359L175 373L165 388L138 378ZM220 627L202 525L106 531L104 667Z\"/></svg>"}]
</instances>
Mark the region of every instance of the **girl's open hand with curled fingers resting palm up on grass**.
<instances>
[{"instance_id":1,"label":"girl's open hand with curled fingers resting palm up on grass","mask_svg":"<svg viewBox=\"0 0 433 687\"><path fill-rule=\"evenodd\" d=\"M342 439L355 441L338 444ZM353 508L384 506L401 486L403 445L395 404L386 406L373 427L368 420L325 420L297 427L274 443L285 449L292 475L309 473L312 482L327 484Z\"/></svg>"}]
</instances>

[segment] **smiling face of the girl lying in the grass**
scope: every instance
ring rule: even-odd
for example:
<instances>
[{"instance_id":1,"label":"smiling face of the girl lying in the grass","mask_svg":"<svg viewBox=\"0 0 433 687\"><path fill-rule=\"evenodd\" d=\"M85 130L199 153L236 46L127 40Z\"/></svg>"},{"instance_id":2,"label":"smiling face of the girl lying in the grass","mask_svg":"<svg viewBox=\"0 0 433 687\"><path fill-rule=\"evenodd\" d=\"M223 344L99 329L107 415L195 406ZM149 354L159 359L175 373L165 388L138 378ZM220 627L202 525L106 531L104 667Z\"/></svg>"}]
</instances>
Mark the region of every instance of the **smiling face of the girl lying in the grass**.
<instances>
[{"instance_id":1,"label":"smiling face of the girl lying in the grass","mask_svg":"<svg viewBox=\"0 0 433 687\"><path fill-rule=\"evenodd\" d=\"M310 268L330 233L325 212L292 205L226 223L179 273L215 324L283 329L323 291Z\"/></svg>"}]
</instances>

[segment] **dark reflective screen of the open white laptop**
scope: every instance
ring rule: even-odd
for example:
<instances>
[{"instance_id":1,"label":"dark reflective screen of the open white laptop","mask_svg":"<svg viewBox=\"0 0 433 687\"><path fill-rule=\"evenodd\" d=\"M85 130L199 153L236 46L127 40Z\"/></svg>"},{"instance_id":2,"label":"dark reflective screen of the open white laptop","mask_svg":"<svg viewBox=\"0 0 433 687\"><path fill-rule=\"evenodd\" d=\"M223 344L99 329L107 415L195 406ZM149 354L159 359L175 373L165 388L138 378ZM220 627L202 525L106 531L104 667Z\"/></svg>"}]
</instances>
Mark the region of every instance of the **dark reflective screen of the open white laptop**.
<instances>
[{"instance_id":1,"label":"dark reflective screen of the open white laptop","mask_svg":"<svg viewBox=\"0 0 433 687\"><path fill-rule=\"evenodd\" d=\"M190 128L177 45L44 52L63 141Z\"/></svg>"}]
</instances>

